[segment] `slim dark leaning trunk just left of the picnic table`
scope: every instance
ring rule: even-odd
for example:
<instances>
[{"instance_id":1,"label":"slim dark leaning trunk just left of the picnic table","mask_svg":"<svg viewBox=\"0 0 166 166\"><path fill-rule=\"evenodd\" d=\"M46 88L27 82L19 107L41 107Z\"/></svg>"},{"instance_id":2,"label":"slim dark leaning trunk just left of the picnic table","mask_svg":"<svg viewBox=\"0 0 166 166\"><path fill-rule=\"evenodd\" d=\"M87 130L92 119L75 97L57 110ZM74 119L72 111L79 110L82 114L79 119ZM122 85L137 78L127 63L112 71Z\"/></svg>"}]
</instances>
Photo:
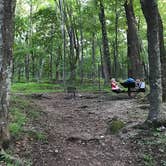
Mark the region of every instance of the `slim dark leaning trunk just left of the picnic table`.
<instances>
[{"instance_id":1,"label":"slim dark leaning trunk just left of the picnic table","mask_svg":"<svg viewBox=\"0 0 166 166\"><path fill-rule=\"evenodd\" d=\"M103 69L104 69L105 81L108 83L109 78L111 76L111 60L110 60L110 52L109 52L108 37L106 30L104 5L102 3L102 0L100 0L99 19L102 29L102 41L103 41Z\"/></svg>"}]
</instances>

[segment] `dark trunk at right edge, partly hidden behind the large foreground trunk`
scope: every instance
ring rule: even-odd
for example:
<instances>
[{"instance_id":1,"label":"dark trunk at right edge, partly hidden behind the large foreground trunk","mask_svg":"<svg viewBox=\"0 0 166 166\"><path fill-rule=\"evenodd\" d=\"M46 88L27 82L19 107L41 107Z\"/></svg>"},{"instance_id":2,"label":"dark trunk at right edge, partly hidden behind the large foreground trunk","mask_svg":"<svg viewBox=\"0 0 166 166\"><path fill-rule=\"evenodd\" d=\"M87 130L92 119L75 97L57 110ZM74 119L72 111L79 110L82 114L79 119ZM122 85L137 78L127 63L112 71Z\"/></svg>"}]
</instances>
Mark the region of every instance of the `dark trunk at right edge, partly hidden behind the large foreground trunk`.
<instances>
[{"instance_id":1,"label":"dark trunk at right edge, partly hidden behind the large foreground trunk","mask_svg":"<svg viewBox=\"0 0 166 166\"><path fill-rule=\"evenodd\" d=\"M162 82L162 100L166 102L166 50L164 47L163 38L163 23L161 20L160 13L158 11L159 21L159 40L160 40L160 60L161 60L161 82Z\"/></svg>"}]
</instances>

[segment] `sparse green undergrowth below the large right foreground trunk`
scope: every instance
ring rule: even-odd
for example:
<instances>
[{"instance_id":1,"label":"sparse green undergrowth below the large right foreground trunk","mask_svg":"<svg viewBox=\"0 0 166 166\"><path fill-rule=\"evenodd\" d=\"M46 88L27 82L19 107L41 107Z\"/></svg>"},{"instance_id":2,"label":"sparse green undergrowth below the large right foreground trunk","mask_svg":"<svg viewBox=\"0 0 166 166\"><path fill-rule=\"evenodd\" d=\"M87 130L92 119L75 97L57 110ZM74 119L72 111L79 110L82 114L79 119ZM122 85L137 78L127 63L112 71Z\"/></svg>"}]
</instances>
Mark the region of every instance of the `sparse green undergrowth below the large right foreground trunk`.
<instances>
[{"instance_id":1,"label":"sparse green undergrowth below the large right foreground trunk","mask_svg":"<svg viewBox=\"0 0 166 166\"><path fill-rule=\"evenodd\" d=\"M161 128L140 134L136 146L141 152L141 162L145 166L166 166L166 131Z\"/></svg>"}]
</instances>

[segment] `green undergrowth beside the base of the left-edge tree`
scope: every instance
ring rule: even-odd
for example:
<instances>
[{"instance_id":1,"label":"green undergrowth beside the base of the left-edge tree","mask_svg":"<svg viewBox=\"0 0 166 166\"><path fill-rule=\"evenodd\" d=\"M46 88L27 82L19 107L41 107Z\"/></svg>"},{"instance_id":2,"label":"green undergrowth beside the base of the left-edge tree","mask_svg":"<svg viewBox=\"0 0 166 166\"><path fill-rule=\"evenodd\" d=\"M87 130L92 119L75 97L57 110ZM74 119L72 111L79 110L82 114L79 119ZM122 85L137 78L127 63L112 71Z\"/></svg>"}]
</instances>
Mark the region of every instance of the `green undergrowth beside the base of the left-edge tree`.
<instances>
[{"instance_id":1,"label":"green undergrowth beside the base of the left-edge tree","mask_svg":"<svg viewBox=\"0 0 166 166\"><path fill-rule=\"evenodd\" d=\"M41 114L42 112L40 109L30 98L23 95L13 95L11 97L9 108L9 131L12 146L10 146L7 151L0 153L0 165L20 166L22 165L20 164L21 162L27 166L32 165L27 157L23 160L15 157L15 145L16 142L20 142L21 144L21 141L24 139L35 142L47 141L46 134L43 131L35 129L33 123L40 118Z\"/></svg>"}]
</instances>

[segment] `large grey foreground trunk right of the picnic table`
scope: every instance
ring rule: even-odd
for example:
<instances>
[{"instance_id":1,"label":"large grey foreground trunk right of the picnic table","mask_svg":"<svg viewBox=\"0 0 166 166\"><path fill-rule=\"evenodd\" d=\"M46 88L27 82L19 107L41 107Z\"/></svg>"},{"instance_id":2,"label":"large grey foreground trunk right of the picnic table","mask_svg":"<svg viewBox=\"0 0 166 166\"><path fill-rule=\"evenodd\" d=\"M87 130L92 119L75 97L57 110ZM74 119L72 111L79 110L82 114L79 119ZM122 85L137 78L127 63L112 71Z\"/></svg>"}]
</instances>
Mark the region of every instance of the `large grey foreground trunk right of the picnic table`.
<instances>
[{"instance_id":1,"label":"large grey foreground trunk right of the picnic table","mask_svg":"<svg viewBox=\"0 0 166 166\"><path fill-rule=\"evenodd\" d=\"M148 38L150 111L147 120L154 123L158 121L162 101L158 6L156 0L141 0L140 2L147 22Z\"/></svg>"}]
</instances>

